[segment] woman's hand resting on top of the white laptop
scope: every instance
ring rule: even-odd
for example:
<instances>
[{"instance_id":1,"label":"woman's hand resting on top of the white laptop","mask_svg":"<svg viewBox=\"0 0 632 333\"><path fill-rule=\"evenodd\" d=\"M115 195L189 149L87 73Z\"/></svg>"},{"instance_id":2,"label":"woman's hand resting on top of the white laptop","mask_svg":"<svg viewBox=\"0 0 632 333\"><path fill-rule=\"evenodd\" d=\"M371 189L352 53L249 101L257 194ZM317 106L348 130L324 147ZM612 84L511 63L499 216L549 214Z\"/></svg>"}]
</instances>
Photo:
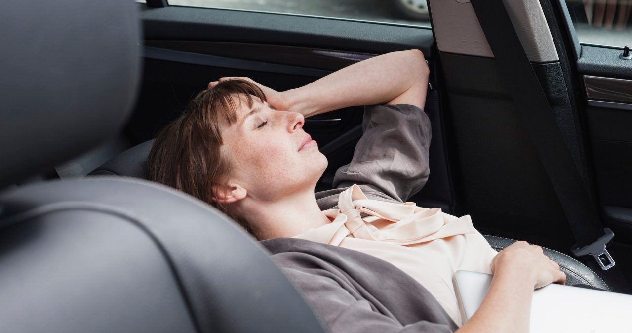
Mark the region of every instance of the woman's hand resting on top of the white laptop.
<instances>
[{"instance_id":1,"label":"woman's hand resting on top of the white laptop","mask_svg":"<svg viewBox=\"0 0 632 333\"><path fill-rule=\"evenodd\" d=\"M544 255L542 248L526 241L516 241L500 251L492 260L492 272L522 272L532 277L533 288L538 289L547 284L566 283L566 274L559 265Z\"/></svg>"}]
</instances>

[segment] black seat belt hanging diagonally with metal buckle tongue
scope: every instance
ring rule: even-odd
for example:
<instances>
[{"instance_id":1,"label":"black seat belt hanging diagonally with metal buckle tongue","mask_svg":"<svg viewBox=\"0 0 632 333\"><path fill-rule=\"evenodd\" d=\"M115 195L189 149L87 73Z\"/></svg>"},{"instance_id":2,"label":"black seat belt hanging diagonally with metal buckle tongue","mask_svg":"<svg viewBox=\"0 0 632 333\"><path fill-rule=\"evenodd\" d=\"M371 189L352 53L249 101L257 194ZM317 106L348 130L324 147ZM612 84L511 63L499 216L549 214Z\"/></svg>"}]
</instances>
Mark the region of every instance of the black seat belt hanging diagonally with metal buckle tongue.
<instances>
[{"instance_id":1,"label":"black seat belt hanging diagonally with metal buckle tongue","mask_svg":"<svg viewBox=\"0 0 632 333\"><path fill-rule=\"evenodd\" d=\"M611 269L614 260L606 244L614 233L601 224L502 0L470 3L573 231L577 243L571 252L576 257L591 255L601 269Z\"/></svg>"}]
</instances>

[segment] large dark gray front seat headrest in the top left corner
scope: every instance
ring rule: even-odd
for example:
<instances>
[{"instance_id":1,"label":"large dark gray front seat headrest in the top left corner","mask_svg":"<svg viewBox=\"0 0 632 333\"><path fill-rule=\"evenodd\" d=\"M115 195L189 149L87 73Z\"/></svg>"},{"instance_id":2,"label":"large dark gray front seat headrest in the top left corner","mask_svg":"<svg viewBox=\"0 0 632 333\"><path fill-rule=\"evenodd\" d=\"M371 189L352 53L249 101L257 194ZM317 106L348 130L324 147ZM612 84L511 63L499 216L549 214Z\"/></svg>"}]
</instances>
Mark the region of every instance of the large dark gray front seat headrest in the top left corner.
<instances>
[{"instance_id":1,"label":"large dark gray front seat headrest in the top left corner","mask_svg":"<svg viewBox=\"0 0 632 333\"><path fill-rule=\"evenodd\" d=\"M140 69L138 4L0 4L0 188L86 152L123 125Z\"/></svg>"}]
</instances>

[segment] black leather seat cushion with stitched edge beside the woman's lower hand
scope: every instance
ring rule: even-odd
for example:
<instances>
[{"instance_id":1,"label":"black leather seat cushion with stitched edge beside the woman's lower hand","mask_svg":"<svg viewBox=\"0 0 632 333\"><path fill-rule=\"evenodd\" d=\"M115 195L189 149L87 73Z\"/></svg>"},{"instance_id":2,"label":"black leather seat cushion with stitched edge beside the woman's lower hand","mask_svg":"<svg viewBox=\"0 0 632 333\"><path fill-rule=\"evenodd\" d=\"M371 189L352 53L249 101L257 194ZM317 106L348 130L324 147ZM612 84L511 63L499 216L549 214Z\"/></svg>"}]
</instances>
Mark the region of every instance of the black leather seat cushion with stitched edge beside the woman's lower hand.
<instances>
[{"instance_id":1,"label":"black leather seat cushion with stitched edge beside the woman's lower hand","mask_svg":"<svg viewBox=\"0 0 632 333\"><path fill-rule=\"evenodd\" d=\"M489 244L496 251L501 251L503 248L514 243L516 239L497 237L484 235ZM592 269L588 268L581 262L569 257L568 255L564 255L559 253L556 250L551 250L550 248L542 247L544 254L549 257L554 262L559 264L560 269L566 273L566 284L568 286L574 286L576 284L588 284L595 288L604 289L607 291L611 291L609 286L605 283L604 280L597 275Z\"/></svg>"}]
</instances>

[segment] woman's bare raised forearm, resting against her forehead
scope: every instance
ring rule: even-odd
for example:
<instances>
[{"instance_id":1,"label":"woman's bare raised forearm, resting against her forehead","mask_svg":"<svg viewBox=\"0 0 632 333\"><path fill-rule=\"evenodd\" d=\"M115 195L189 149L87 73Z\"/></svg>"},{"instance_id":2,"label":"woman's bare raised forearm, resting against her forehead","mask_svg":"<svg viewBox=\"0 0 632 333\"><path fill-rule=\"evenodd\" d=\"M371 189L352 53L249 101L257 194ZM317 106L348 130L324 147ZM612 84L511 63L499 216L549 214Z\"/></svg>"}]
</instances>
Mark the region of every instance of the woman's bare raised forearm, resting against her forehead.
<instances>
[{"instance_id":1,"label":"woman's bare raised forearm, resting against her forehead","mask_svg":"<svg viewBox=\"0 0 632 333\"><path fill-rule=\"evenodd\" d=\"M281 94L287 111L313 116L348 106L383 104L428 76L421 51L391 52L351 64Z\"/></svg>"}]
</instances>

